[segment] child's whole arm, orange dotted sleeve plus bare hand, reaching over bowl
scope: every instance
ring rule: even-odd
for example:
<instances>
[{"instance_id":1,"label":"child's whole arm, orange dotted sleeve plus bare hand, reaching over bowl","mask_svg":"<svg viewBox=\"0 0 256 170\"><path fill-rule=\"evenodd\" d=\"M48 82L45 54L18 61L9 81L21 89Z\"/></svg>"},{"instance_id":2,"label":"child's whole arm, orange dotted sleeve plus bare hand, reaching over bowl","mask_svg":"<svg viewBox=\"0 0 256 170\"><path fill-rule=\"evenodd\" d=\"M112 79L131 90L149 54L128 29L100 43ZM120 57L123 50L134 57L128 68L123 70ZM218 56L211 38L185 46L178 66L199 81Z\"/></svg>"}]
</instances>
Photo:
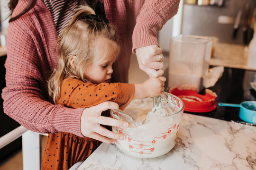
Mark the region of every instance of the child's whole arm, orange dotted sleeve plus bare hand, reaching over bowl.
<instances>
[{"instance_id":1,"label":"child's whole arm, orange dotted sleeve plus bare hand, reaching over bowl","mask_svg":"<svg viewBox=\"0 0 256 170\"><path fill-rule=\"evenodd\" d=\"M57 103L67 107L91 107L102 102L111 101L124 110L133 99L162 95L165 77L150 78L142 84L101 83L94 85L81 80L68 78L63 82Z\"/></svg>"}]
</instances>

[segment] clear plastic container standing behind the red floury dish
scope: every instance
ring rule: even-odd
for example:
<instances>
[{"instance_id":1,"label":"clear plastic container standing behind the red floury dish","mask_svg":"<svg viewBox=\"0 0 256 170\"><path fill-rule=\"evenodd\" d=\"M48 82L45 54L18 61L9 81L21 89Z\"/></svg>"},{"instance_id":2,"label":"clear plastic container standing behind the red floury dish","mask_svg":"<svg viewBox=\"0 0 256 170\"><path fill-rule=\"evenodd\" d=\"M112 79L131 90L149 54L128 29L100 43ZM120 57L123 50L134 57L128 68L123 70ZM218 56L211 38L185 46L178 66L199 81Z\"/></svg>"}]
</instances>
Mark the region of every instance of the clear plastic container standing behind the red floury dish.
<instances>
[{"instance_id":1,"label":"clear plastic container standing behind the red floury dish","mask_svg":"<svg viewBox=\"0 0 256 170\"><path fill-rule=\"evenodd\" d=\"M170 40L168 86L200 86L208 71L212 38L179 35Z\"/></svg>"}]
</instances>

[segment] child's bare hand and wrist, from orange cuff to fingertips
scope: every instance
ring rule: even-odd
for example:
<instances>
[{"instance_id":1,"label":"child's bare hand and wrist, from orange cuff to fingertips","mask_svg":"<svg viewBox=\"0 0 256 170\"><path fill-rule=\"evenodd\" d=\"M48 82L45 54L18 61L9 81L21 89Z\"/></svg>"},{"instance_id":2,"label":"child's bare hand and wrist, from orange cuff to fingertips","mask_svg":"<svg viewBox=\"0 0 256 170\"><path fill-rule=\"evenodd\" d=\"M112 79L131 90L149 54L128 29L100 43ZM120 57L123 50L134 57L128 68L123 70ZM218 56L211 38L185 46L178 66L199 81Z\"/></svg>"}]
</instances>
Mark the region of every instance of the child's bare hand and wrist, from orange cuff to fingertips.
<instances>
[{"instance_id":1,"label":"child's bare hand and wrist, from orange cuff to fingertips","mask_svg":"<svg viewBox=\"0 0 256 170\"><path fill-rule=\"evenodd\" d=\"M133 99L162 95L165 90L165 81L166 78L163 76L158 78L151 77L142 84L136 84Z\"/></svg>"}]
</instances>

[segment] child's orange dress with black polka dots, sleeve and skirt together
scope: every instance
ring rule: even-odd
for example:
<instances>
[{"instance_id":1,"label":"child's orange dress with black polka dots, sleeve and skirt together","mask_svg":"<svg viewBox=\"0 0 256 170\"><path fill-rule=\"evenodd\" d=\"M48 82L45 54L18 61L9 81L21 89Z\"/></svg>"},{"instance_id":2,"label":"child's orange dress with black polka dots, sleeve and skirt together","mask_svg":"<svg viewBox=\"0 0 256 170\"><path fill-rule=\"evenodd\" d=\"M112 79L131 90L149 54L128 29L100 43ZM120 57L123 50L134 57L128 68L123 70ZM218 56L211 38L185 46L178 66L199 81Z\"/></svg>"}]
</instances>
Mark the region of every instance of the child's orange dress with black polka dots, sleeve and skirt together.
<instances>
[{"instance_id":1,"label":"child's orange dress with black polka dots, sleeve and skirt together","mask_svg":"<svg viewBox=\"0 0 256 170\"><path fill-rule=\"evenodd\" d=\"M134 84L84 83L76 78L67 78L61 87L58 104L66 107L91 107L102 102L117 102L121 110L131 102ZM49 134L42 157L42 170L68 170L77 161L85 160L101 144L89 137L80 137L63 132Z\"/></svg>"}]
</instances>

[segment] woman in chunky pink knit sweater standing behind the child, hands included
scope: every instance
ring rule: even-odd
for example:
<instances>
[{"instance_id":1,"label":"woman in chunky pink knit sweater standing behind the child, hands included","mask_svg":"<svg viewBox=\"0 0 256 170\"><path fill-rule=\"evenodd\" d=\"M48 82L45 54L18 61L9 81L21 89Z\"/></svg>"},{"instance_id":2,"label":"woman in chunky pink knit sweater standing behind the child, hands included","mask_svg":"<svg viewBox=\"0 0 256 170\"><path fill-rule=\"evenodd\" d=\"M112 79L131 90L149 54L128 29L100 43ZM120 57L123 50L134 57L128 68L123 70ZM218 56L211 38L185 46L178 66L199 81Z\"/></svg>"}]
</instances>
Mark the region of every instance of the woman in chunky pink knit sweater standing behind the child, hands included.
<instances>
[{"instance_id":1,"label":"woman in chunky pink knit sweater standing behind the child, hands included","mask_svg":"<svg viewBox=\"0 0 256 170\"><path fill-rule=\"evenodd\" d=\"M114 102L71 109L53 104L47 93L47 80L57 66L58 33L76 7L83 3L90 5L93 0L29 0L29 4L28 0L18 0L18 4L16 1L9 3L12 18L7 34L6 87L2 93L4 112L27 129L39 133L69 132L91 137L95 128L99 128L97 123L128 127L127 122L103 116L96 117L98 122L88 119L92 114L100 115L103 110L118 109ZM113 81L128 82L132 51L137 54L140 68L149 76L163 75L163 61L156 62L158 55L162 55L156 32L177 13L178 5L179 0L100 0L95 5L101 9L99 13L106 15L117 27L120 37L122 52L113 66ZM104 131L100 136L97 140L107 143L122 137L111 131Z\"/></svg>"}]
</instances>

